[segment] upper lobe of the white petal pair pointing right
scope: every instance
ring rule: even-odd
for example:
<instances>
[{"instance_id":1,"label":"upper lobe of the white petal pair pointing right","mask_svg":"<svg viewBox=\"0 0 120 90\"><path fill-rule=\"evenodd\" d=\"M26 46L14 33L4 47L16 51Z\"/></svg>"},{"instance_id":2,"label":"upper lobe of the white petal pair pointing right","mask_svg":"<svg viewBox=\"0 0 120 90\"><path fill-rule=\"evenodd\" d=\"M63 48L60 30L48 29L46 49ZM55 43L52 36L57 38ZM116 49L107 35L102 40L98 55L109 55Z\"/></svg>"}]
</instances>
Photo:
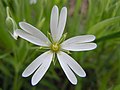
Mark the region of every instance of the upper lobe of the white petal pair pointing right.
<instances>
[{"instance_id":1,"label":"upper lobe of the white petal pair pointing right","mask_svg":"<svg viewBox=\"0 0 120 90\"><path fill-rule=\"evenodd\" d=\"M84 43L84 42L91 42L95 40L94 35L83 35L83 36L75 36L65 40L62 45L69 45L73 43Z\"/></svg>"}]
</instances>

